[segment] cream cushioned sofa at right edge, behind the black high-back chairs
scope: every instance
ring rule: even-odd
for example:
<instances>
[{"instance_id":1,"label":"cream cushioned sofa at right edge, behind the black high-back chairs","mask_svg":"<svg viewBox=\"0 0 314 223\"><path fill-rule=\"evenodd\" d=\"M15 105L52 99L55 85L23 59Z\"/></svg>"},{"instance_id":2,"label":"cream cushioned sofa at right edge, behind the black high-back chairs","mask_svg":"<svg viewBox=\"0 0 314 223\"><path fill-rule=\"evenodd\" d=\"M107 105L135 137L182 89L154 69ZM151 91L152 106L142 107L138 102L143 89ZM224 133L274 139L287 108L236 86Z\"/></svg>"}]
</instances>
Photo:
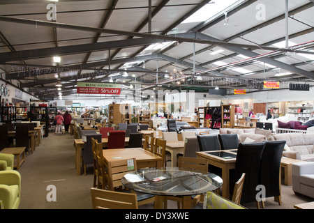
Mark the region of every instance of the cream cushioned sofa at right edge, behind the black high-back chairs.
<instances>
[{"instance_id":1,"label":"cream cushioned sofa at right edge, behind the black high-back chairs","mask_svg":"<svg viewBox=\"0 0 314 223\"><path fill-rule=\"evenodd\" d=\"M296 160L314 161L314 134L312 133L283 133L274 134L267 140L285 140L283 156Z\"/></svg>"}]
</instances>

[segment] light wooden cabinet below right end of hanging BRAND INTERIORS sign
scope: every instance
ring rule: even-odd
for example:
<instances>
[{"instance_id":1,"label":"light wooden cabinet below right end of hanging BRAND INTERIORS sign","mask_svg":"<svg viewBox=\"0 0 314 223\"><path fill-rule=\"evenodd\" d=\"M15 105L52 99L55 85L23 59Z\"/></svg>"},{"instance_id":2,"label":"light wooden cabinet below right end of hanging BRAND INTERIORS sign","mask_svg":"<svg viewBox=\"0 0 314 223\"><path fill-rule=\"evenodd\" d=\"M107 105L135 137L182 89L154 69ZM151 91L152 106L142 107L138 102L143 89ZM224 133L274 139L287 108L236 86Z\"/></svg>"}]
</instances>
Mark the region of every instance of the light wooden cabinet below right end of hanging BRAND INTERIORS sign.
<instances>
[{"instance_id":1,"label":"light wooden cabinet below right end of hanging BRAND INTERIORS sign","mask_svg":"<svg viewBox=\"0 0 314 223\"><path fill-rule=\"evenodd\" d=\"M130 123L132 109L128 104L110 104L108 107L108 122L112 124Z\"/></svg>"}]
</instances>

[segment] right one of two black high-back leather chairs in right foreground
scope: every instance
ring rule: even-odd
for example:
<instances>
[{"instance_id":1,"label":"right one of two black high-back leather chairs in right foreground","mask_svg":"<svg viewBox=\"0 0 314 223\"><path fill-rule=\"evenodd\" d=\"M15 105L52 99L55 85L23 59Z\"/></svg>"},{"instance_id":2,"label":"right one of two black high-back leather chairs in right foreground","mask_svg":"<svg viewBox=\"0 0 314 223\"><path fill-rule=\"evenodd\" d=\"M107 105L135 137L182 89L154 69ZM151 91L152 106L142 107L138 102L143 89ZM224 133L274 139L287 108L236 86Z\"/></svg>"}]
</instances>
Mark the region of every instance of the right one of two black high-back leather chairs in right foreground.
<instances>
[{"instance_id":1,"label":"right one of two black high-back leather chairs in right foreground","mask_svg":"<svg viewBox=\"0 0 314 223\"><path fill-rule=\"evenodd\" d=\"M275 197L281 205L280 168L286 141L266 141L260 164L260 185L265 187L265 197ZM264 202L262 201L264 208Z\"/></svg>"}]
</instances>

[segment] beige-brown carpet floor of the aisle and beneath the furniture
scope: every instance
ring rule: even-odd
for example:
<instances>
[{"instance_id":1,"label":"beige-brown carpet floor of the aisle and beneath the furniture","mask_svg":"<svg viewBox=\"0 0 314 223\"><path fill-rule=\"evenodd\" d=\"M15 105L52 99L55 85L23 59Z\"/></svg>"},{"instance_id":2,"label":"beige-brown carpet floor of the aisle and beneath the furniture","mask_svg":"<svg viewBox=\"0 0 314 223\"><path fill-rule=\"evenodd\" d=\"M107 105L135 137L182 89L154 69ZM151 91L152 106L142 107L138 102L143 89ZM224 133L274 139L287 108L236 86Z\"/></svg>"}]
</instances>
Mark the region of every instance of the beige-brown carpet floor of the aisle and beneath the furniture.
<instances>
[{"instance_id":1,"label":"beige-brown carpet floor of the aisle and beneath the furniture","mask_svg":"<svg viewBox=\"0 0 314 223\"><path fill-rule=\"evenodd\" d=\"M49 133L43 138L33 154L27 154L18 170L22 176L20 209L91 209L93 167L87 176L77 176L75 170L74 137L68 133ZM52 192L55 192L52 194ZM293 209L294 204L314 201L310 197L296 195L292 186L282 185L282 205L274 198L266 199L265 209ZM56 200L52 200L55 198ZM256 209L255 202L245 203ZM154 208L151 204L140 208ZM168 208L176 209L177 203L168 201Z\"/></svg>"}]
</instances>

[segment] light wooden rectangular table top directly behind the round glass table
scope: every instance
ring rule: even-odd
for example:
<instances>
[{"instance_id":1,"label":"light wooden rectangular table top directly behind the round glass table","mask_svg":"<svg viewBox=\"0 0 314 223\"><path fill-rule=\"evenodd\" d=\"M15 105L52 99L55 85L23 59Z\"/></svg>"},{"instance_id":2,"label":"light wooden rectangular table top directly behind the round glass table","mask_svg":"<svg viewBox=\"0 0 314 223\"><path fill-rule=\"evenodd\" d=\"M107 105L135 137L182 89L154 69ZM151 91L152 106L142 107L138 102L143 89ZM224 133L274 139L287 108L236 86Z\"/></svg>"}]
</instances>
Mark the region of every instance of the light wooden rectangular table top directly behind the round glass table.
<instances>
[{"instance_id":1,"label":"light wooden rectangular table top directly behind the round glass table","mask_svg":"<svg viewBox=\"0 0 314 223\"><path fill-rule=\"evenodd\" d=\"M163 167L162 157L144 150L141 147L136 148L114 148L103 149L105 164L117 160L136 159L137 169L146 167Z\"/></svg>"}]
</instances>

